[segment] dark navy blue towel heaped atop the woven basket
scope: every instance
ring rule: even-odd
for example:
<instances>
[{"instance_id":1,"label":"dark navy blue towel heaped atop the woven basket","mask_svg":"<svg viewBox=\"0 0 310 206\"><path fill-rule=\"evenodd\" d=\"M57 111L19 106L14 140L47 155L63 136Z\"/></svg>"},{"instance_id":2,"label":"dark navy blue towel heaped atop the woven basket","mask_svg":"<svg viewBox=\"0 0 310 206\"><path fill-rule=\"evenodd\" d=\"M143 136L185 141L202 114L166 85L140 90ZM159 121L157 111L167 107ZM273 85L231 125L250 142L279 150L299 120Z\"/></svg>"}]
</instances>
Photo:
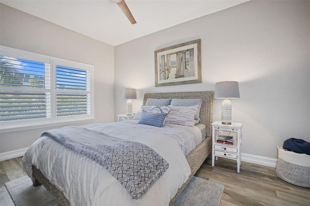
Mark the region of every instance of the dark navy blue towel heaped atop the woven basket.
<instances>
[{"instance_id":1,"label":"dark navy blue towel heaped atop the woven basket","mask_svg":"<svg viewBox=\"0 0 310 206\"><path fill-rule=\"evenodd\" d=\"M310 143L303 139L289 138L284 141L283 148L296 153L310 155Z\"/></svg>"}]
</instances>

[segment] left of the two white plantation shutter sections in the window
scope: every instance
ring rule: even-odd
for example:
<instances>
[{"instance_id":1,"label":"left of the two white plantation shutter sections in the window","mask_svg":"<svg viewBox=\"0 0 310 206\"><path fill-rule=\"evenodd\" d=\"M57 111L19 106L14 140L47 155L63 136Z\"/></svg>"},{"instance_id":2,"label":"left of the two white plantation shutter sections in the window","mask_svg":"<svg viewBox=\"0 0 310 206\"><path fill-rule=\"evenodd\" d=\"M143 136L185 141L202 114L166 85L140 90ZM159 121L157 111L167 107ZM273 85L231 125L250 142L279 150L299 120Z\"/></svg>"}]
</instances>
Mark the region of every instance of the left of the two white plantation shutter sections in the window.
<instances>
[{"instance_id":1,"label":"left of the two white plantation shutter sections in the window","mask_svg":"<svg viewBox=\"0 0 310 206\"><path fill-rule=\"evenodd\" d=\"M50 65L0 56L0 121L50 117Z\"/></svg>"}]
</instances>

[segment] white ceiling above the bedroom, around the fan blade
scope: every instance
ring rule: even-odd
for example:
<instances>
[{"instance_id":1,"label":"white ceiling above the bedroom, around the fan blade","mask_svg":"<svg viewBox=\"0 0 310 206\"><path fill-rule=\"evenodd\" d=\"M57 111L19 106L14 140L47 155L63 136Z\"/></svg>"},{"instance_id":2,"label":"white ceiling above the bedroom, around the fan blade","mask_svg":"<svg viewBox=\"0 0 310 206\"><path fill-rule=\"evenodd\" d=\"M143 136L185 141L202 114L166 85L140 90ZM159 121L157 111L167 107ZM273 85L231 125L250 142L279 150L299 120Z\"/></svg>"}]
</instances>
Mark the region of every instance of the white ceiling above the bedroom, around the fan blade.
<instances>
[{"instance_id":1,"label":"white ceiling above the bedroom, around the fan blade","mask_svg":"<svg viewBox=\"0 0 310 206\"><path fill-rule=\"evenodd\" d=\"M112 46L248 0L125 0L132 25L110 0L0 0L1 3Z\"/></svg>"}]
</instances>

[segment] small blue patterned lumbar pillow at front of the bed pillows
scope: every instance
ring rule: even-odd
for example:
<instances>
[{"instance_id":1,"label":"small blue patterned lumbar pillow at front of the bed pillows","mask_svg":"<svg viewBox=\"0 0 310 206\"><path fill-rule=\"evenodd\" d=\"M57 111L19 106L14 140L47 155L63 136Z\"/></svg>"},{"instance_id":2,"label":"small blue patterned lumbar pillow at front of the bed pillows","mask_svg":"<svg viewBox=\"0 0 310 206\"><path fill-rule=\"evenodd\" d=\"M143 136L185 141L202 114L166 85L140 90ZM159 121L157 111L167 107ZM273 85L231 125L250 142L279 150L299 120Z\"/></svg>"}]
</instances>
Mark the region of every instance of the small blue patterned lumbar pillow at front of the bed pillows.
<instances>
[{"instance_id":1,"label":"small blue patterned lumbar pillow at front of the bed pillows","mask_svg":"<svg viewBox=\"0 0 310 206\"><path fill-rule=\"evenodd\" d=\"M150 113L142 111L138 124L147 124L155 127L163 127L167 114Z\"/></svg>"}]
</instances>

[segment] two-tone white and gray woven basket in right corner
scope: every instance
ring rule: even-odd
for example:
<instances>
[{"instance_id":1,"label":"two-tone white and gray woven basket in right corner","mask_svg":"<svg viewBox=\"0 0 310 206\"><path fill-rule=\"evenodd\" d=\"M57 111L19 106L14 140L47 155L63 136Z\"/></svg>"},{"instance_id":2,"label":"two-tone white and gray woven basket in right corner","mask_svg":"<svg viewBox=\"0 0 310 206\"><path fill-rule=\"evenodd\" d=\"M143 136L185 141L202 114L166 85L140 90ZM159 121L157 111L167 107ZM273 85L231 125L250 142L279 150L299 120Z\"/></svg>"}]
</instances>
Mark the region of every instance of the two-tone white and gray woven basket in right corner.
<instances>
[{"instance_id":1,"label":"two-tone white and gray woven basket in right corner","mask_svg":"<svg viewBox=\"0 0 310 206\"><path fill-rule=\"evenodd\" d=\"M310 188L310 155L278 147L277 176L286 182Z\"/></svg>"}]
</instances>

